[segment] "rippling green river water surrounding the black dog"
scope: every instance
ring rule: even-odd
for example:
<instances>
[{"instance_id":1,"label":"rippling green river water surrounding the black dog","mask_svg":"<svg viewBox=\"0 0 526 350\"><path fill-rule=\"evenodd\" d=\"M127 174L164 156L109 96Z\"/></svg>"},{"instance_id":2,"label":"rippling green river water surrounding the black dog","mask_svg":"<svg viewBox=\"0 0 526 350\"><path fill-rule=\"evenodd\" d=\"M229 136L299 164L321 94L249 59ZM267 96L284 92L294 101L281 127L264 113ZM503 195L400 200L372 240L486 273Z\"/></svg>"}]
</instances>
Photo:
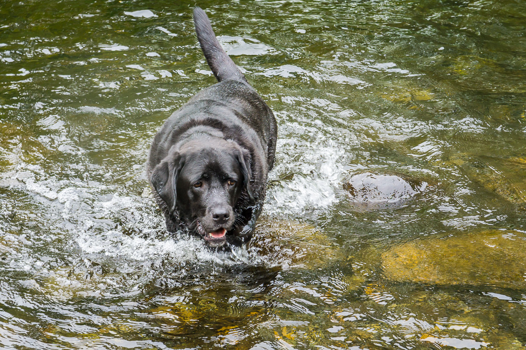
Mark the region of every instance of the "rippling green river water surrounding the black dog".
<instances>
[{"instance_id":1,"label":"rippling green river water surrounding the black dog","mask_svg":"<svg viewBox=\"0 0 526 350\"><path fill-rule=\"evenodd\" d=\"M524 349L526 3L199 2L279 125L232 254L145 174L194 4L0 1L0 347Z\"/></svg>"}]
</instances>

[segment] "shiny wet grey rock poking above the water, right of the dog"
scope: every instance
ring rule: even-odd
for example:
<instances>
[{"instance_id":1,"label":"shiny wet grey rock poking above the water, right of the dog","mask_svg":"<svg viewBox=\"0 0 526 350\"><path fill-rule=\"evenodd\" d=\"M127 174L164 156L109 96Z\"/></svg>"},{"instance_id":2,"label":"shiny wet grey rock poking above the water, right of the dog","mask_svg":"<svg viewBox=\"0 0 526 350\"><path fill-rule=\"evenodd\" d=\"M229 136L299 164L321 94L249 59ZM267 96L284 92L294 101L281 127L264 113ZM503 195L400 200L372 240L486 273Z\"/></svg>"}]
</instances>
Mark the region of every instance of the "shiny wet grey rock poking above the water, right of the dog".
<instances>
[{"instance_id":1,"label":"shiny wet grey rock poking above the water, right of the dog","mask_svg":"<svg viewBox=\"0 0 526 350\"><path fill-rule=\"evenodd\" d=\"M398 175L373 173L353 175L343 185L354 201L388 203L408 199L426 187L426 182L404 179Z\"/></svg>"}]
</instances>

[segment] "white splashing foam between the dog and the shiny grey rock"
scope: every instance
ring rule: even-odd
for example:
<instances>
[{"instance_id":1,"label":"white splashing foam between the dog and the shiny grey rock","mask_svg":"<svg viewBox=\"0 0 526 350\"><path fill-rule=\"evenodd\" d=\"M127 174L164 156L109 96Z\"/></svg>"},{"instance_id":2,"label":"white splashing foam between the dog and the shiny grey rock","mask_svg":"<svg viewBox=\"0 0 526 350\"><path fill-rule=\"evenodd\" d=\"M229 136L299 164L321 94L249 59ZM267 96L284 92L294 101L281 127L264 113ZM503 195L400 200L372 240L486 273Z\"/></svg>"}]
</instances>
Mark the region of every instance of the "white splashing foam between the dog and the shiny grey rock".
<instances>
[{"instance_id":1,"label":"white splashing foam between the dog and the shiny grey rock","mask_svg":"<svg viewBox=\"0 0 526 350\"><path fill-rule=\"evenodd\" d=\"M326 100L314 103L332 108ZM319 119L312 124L288 123L280 132L286 135L278 137L278 160L270 174L272 185L265 211L271 215L309 213L315 217L327 213L338 202L337 193L348 174L345 164L352 154L346 148L356 140L347 134L327 136L335 130ZM296 137L298 134L302 137Z\"/></svg>"}]
</instances>

